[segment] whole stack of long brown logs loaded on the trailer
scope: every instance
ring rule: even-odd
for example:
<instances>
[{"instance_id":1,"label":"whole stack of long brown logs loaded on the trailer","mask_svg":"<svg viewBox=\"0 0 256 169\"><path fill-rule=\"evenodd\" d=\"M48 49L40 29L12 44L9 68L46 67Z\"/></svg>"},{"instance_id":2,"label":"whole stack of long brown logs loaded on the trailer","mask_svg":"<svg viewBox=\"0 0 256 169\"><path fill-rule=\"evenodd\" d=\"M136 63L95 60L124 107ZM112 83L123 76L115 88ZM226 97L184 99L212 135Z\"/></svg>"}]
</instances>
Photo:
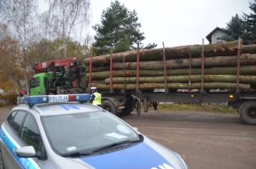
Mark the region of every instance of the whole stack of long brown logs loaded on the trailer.
<instances>
[{"instance_id":1,"label":"whole stack of long brown logs loaded on the trailer","mask_svg":"<svg viewBox=\"0 0 256 169\"><path fill-rule=\"evenodd\" d=\"M113 54L112 72L111 54L84 61L89 86L99 89L256 88L256 44L239 41Z\"/></svg>"}]
</instances>

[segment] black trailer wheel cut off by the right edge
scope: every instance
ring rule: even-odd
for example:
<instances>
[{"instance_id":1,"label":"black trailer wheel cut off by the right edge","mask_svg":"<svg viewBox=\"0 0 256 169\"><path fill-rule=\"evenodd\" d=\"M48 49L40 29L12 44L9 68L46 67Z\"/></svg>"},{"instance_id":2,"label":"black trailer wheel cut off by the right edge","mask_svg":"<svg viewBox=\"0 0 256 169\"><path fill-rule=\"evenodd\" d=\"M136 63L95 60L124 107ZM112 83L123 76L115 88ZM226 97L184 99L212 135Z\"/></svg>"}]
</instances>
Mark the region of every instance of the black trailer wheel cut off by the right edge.
<instances>
[{"instance_id":1,"label":"black trailer wheel cut off by the right edge","mask_svg":"<svg viewBox=\"0 0 256 169\"><path fill-rule=\"evenodd\" d=\"M239 108L241 121L246 124L256 125L256 101L247 101Z\"/></svg>"}]
</instances>

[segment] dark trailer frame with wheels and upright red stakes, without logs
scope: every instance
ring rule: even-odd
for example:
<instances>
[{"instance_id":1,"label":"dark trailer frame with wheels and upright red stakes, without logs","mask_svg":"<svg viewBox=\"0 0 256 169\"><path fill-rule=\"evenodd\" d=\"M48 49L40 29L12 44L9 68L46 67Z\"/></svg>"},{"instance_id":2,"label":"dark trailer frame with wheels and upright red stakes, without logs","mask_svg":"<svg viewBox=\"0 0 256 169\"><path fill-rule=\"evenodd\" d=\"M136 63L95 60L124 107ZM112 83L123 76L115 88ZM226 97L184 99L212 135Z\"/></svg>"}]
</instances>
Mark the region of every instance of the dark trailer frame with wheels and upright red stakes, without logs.
<instances>
[{"instance_id":1,"label":"dark trailer frame with wheels and upright red stakes, without logs","mask_svg":"<svg viewBox=\"0 0 256 169\"><path fill-rule=\"evenodd\" d=\"M140 89L140 51L137 48L137 66L136 66L136 89L127 89L126 81L124 76L123 88L116 89L113 84L113 47L110 48L110 61L109 61L109 89L102 89L100 93L105 98L110 98L108 101L103 102L102 108L111 111L115 115L125 114L129 115L134 109L137 110L137 115L141 112L141 103L143 104L143 111L148 111L148 106L153 106L154 110L157 110L157 105L160 102L172 102L177 104L201 104L201 103L212 103L221 104L228 103L240 115L240 119L243 123L256 125L256 91L243 91L240 87L240 70L241 70L241 40L237 48L236 57L236 89L235 90L209 90L205 88L204 75L205 75L205 54L204 54L204 44L201 49L201 88L198 90L179 90L169 89L167 85L167 66L166 66L166 52L163 44L163 71L164 71L164 87L159 90L152 89ZM100 59L102 60L102 59ZM123 58L124 73L125 75L125 54ZM189 54L189 82L188 86L191 85L191 66L192 58L191 52ZM253 67L256 65L253 65ZM89 83L88 87L96 84L93 82L93 58L90 54L90 64L89 64ZM152 70L154 71L154 70ZM128 77L127 77L128 78ZM255 85L255 84L254 84ZM128 86L128 85L127 85ZM253 86L253 88L256 88ZM119 102L123 100L122 102ZM119 103L124 104L124 106L119 107Z\"/></svg>"}]
</instances>

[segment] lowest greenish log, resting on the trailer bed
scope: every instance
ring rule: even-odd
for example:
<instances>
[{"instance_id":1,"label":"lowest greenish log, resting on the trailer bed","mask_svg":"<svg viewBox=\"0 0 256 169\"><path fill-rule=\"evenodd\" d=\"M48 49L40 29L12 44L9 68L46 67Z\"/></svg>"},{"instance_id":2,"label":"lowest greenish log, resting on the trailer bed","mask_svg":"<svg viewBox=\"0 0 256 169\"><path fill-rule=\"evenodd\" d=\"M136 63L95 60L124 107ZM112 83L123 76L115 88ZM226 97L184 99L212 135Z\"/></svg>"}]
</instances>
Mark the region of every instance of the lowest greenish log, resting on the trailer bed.
<instances>
[{"instance_id":1,"label":"lowest greenish log, resting on the trailer bed","mask_svg":"<svg viewBox=\"0 0 256 169\"><path fill-rule=\"evenodd\" d=\"M108 90L109 85L103 83L92 83L92 86L97 87L99 90ZM201 83L192 83L189 87L188 83L168 83L169 89L201 89ZM206 82L204 85L205 89L236 89L236 83L227 82ZM154 89L154 88L165 88L164 83L142 83L139 85L141 90ZM250 90L249 84L239 84L241 90ZM136 89L136 84L113 84L113 89Z\"/></svg>"}]
</instances>

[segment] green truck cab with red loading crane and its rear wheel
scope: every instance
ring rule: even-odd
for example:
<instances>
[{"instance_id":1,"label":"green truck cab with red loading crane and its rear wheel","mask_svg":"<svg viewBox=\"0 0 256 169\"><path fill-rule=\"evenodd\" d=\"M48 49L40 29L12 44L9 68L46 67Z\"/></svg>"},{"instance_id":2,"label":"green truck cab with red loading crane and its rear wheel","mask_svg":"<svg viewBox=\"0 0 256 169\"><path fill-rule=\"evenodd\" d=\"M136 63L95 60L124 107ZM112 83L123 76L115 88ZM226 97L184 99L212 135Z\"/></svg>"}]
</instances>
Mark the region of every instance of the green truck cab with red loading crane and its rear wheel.
<instances>
[{"instance_id":1,"label":"green truck cab with red loading crane and its rear wheel","mask_svg":"<svg viewBox=\"0 0 256 169\"><path fill-rule=\"evenodd\" d=\"M68 58L41 62L35 64L33 70L35 75L30 82L30 95L86 92L85 85L81 84L85 74L85 66L79 59ZM130 97L128 99L130 100ZM126 112L125 103L128 104L128 99L123 94L103 95L102 108L119 115L123 111ZM130 105L129 107L131 112L133 109Z\"/></svg>"}]
</instances>

